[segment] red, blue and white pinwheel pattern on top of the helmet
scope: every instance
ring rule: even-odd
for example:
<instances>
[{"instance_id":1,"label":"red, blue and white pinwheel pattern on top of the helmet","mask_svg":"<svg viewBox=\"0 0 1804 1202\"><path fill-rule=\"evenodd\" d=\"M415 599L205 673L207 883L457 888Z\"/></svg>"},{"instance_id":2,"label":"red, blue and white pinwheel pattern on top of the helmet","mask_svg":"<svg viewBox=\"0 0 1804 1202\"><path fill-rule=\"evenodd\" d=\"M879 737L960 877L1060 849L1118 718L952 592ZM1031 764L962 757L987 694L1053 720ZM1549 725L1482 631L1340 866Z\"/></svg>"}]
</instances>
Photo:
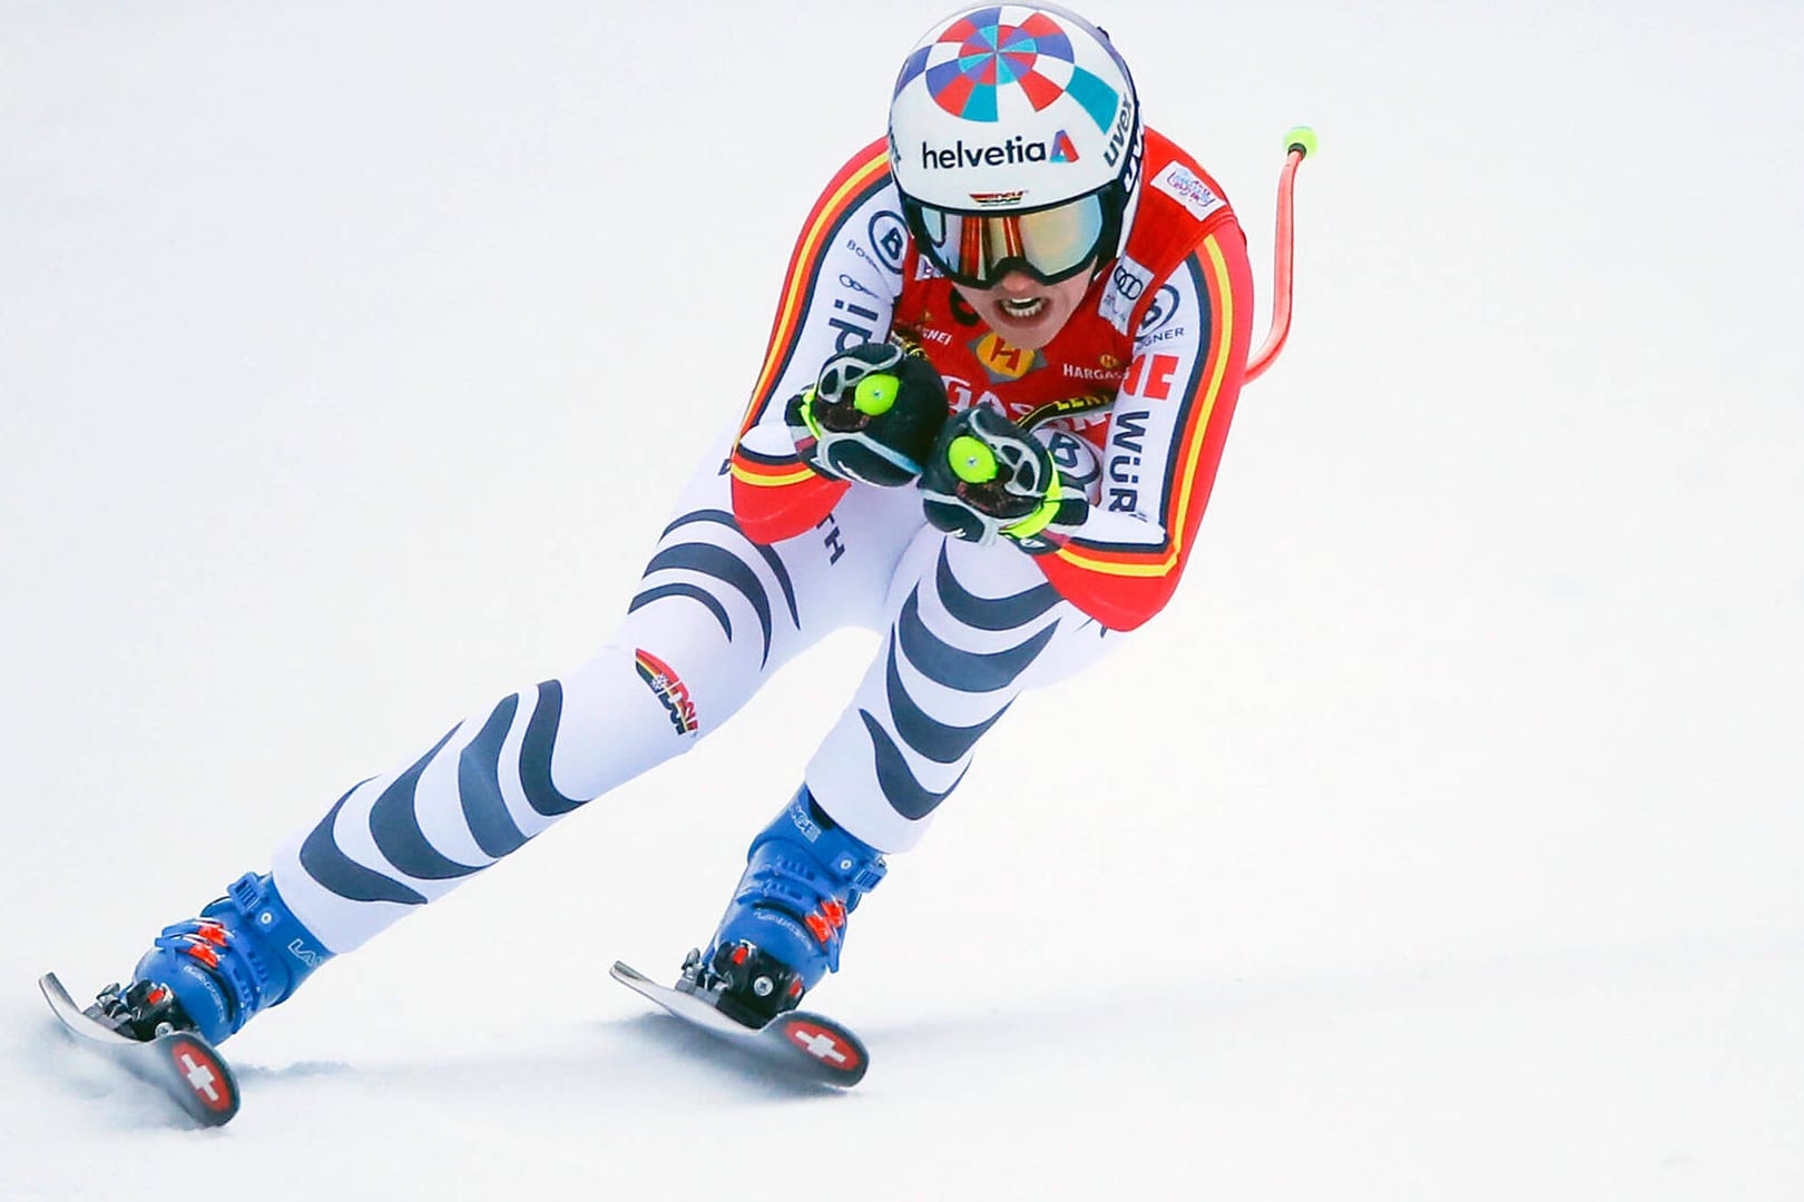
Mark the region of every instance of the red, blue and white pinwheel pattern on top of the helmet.
<instances>
[{"instance_id":1,"label":"red, blue and white pinwheel pattern on top of the helmet","mask_svg":"<svg viewBox=\"0 0 1804 1202\"><path fill-rule=\"evenodd\" d=\"M1070 34L1046 13L1030 13L1019 25L1003 22L1001 7L969 13L915 50L897 92L922 74L933 103L965 121L998 121L1008 90L1034 112L1070 96L1099 130L1109 128L1120 103L1113 87L1077 65Z\"/></svg>"}]
</instances>

